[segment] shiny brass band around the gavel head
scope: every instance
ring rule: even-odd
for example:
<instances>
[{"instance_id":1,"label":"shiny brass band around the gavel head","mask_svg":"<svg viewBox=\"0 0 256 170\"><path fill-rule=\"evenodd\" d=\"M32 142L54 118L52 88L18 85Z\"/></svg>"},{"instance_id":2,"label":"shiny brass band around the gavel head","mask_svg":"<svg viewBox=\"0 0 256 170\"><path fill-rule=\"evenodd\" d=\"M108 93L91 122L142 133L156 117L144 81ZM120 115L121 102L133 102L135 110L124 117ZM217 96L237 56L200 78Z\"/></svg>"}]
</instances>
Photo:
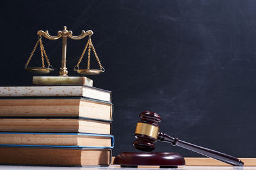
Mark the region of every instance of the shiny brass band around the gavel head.
<instances>
[{"instance_id":1,"label":"shiny brass band around the gavel head","mask_svg":"<svg viewBox=\"0 0 256 170\"><path fill-rule=\"evenodd\" d=\"M144 134L157 139L158 131L159 128L154 125L138 122L135 134Z\"/></svg>"}]
</instances>

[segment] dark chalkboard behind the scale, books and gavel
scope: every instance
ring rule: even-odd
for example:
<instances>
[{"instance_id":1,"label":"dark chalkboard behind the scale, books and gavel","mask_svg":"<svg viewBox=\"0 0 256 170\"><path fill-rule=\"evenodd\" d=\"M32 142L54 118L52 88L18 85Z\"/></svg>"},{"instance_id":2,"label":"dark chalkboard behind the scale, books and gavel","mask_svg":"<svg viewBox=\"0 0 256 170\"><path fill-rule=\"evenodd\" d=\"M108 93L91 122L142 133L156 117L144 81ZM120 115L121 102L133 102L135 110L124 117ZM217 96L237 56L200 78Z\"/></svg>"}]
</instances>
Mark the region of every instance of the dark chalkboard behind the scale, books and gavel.
<instances>
[{"instance_id":1,"label":"dark chalkboard behind the scale, books and gavel","mask_svg":"<svg viewBox=\"0 0 256 170\"><path fill-rule=\"evenodd\" d=\"M106 72L88 76L113 92L115 149L136 151L141 111L163 118L161 131L236 157L256 157L256 1L4 1L1 85L29 85L24 71L38 30L56 36L91 29ZM69 76L86 39L67 41ZM61 40L43 38L54 73ZM86 60L82 61L86 67ZM93 58L92 66L97 68ZM40 66L36 51L30 66ZM38 74L36 75L38 76ZM156 152L197 153L168 143Z\"/></svg>"}]
</instances>

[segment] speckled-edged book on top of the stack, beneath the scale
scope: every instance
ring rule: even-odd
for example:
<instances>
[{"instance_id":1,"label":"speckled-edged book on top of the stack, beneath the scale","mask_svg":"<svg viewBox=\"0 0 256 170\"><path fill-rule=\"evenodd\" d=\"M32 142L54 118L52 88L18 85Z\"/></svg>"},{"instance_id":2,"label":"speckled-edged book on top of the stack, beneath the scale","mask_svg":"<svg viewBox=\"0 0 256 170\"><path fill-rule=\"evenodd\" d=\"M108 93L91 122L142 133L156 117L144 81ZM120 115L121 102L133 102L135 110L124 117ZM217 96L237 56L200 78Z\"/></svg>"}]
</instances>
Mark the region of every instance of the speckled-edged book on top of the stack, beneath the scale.
<instances>
[{"instance_id":1,"label":"speckled-edged book on top of the stack, beneath the scale","mask_svg":"<svg viewBox=\"0 0 256 170\"><path fill-rule=\"evenodd\" d=\"M111 91L86 85L0 87L0 97L88 97L111 102Z\"/></svg>"}]
</instances>

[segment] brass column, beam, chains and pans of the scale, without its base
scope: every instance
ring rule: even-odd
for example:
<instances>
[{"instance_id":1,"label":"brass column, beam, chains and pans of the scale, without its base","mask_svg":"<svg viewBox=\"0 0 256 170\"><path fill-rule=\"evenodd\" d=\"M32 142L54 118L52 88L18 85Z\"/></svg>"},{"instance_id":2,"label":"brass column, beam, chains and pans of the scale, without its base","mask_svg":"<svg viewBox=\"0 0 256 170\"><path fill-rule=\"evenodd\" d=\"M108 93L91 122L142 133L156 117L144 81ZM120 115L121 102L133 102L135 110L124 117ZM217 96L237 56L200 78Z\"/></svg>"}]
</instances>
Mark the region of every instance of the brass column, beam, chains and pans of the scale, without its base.
<instances>
[{"instance_id":1,"label":"brass column, beam, chains and pans of the scale, without its base","mask_svg":"<svg viewBox=\"0 0 256 170\"><path fill-rule=\"evenodd\" d=\"M88 41L86 43L86 45L84 46L84 50L83 53L81 54L81 57L79 58L77 65L74 66L74 71L77 71L77 73L79 74L85 74L85 75L96 75L96 74L100 74L103 73L105 71L104 67L102 67L99 57L95 51L95 48L92 44L92 34L93 32L88 30L88 31L82 31L81 34L79 36L72 36L72 31L68 31L67 27L64 26L63 31L58 31L58 36L51 36L49 34L48 31L38 31L38 40L36 41L36 45L33 48L31 55L29 56L28 61L26 62L26 66L25 69L31 73L40 73L40 74L47 74L50 73L51 71L53 71L54 69L52 68L49 58L47 57L47 54L45 52L45 48L44 45L42 43L42 36L44 36L47 39L59 39L62 37L62 59L61 59L61 68L60 68L60 75L59 76L68 76L68 71L67 71L67 67L66 67L66 52L67 52L67 38L71 38L71 39L83 39L86 36L88 36ZM40 51L41 51L41 59L42 59L42 67L28 67L29 62L31 60L31 58L33 57L35 50L38 46L38 44L40 45ZM81 63L81 60L84 57L84 53L86 52L88 48L88 61L87 61L87 69L81 69L79 68L79 64ZM93 50L93 53L97 59L97 62L99 64L100 69L90 69L90 57L91 57L91 48ZM44 63L44 57L45 60L47 62L47 67L45 67L45 63ZM62 78L63 79L63 78ZM65 79L65 78L64 78ZM68 78L67 78L68 80Z\"/></svg>"}]
</instances>

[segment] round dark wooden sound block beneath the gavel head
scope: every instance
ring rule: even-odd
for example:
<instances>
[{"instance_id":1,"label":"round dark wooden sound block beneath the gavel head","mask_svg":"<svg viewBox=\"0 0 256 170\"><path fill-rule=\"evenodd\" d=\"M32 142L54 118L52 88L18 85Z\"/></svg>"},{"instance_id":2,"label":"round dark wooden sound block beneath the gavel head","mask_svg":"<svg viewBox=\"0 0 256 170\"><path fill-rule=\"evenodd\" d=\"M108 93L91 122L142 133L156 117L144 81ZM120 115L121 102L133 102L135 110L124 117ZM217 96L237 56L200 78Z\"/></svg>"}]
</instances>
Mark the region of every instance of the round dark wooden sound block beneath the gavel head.
<instances>
[{"instance_id":1,"label":"round dark wooden sound block beneath the gavel head","mask_svg":"<svg viewBox=\"0 0 256 170\"><path fill-rule=\"evenodd\" d=\"M185 160L179 153L172 152L122 152L115 157L114 164L121 167L178 167L184 166Z\"/></svg>"}]
</instances>

